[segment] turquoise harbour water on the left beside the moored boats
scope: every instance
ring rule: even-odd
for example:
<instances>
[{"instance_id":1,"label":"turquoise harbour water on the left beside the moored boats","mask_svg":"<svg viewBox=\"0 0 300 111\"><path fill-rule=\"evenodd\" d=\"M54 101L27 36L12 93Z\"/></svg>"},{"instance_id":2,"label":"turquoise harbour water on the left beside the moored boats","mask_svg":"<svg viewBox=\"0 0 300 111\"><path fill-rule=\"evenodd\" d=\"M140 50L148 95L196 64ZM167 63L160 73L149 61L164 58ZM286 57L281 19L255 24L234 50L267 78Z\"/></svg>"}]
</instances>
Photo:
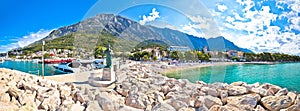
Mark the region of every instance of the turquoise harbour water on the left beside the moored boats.
<instances>
[{"instance_id":1,"label":"turquoise harbour water on the left beside the moored boats","mask_svg":"<svg viewBox=\"0 0 300 111\"><path fill-rule=\"evenodd\" d=\"M42 74L42 64L32 61L5 61L4 63L0 63L0 68L19 70L34 75L38 75L38 72L40 75ZM56 74L55 69L51 65L45 64L45 76Z\"/></svg>"}]
</instances>

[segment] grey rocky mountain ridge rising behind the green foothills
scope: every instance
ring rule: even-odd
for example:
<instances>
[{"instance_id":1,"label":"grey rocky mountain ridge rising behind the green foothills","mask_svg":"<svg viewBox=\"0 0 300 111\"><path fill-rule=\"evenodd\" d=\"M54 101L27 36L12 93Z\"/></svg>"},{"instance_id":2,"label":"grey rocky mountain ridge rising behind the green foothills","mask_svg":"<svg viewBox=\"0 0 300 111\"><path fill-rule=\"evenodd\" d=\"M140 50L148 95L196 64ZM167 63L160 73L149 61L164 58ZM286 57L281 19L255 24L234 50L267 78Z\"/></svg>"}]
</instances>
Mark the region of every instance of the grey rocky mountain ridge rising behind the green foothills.
<instances>
[{"instance_id":1,"label":"grey rocky mountain ridge rising behind the green foothills","mask_svg":"<svg viewBox=\"0 0 300 111\"><path fill-rule=\"evenodd\" d=\"M188 46L191 49L197 50L201 50L207 46L210 50L248 51L237 47L224 37L207 40L169 28L140 25L135 21L113 14L99 14L76 24L61 27L28 47L33 47L36 44L42 43L42 41L51 41L71 34L71 37L74 38L74 47L94 48L96 44L103 42L99 40L103 39L103 33L111 36L114 50L118 51L130 50L139 43L147 40L159 40L167 45ZM106 37L105 40L107 41L107 39ZM107 43L102 45L107 45Z\"/></svg>"}]
</instances>

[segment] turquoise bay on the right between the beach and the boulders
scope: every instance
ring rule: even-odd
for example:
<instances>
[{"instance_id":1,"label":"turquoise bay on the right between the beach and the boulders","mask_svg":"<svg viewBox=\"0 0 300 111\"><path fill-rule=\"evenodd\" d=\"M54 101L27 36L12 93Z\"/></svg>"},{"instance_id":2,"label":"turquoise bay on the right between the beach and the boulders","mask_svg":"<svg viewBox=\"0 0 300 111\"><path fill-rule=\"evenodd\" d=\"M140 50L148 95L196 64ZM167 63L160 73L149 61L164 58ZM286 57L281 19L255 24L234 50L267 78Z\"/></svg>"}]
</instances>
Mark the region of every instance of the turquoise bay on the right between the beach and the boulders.
<instances>
[{"instance_id":1,"label":"turquoise bay on the right between the beach and the boulders","mask_svg":"<svg viewBox=\"0 0 300 111\"><path fill-rule=\"evenodd\" d=\"M244 81L246 83L271 83L288 90L300 92L300 63L276 65L227 65L182 70L168 77L214 83Z\"/></svg>"}]
</instances>

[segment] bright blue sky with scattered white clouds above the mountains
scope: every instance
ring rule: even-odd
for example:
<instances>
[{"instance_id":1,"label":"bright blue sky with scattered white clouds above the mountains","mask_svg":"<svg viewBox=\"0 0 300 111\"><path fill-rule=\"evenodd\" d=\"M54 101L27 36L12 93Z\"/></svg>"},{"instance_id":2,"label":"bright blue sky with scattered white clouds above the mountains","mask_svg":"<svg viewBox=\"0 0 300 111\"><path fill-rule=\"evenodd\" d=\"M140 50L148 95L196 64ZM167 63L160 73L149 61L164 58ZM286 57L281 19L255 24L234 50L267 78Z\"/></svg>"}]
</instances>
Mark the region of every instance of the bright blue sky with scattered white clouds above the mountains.
<instances>
[{"instance_id":1,"label":"bright blue sky with scattered white clouds above the mountains","mask_svg":"<svg viewBox=\"0 0 300 111\"><path fill-rule=\"evenodd\" d=\"M113 13L198 37L223 36L254 52L300 55L298 0L7 0L0 1L0 12L0 52L98 13Z\"/></svg>"}]
</instances>

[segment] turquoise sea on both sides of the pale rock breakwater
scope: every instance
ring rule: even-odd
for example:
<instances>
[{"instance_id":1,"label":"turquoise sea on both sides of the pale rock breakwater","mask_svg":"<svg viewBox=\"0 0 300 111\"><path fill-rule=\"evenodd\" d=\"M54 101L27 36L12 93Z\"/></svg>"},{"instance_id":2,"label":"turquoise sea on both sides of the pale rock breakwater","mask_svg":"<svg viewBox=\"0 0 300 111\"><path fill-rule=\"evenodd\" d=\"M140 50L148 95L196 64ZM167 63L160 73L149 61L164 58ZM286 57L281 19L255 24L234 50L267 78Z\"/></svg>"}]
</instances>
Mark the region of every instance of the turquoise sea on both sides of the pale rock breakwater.
<instances>
[{"instance_id":1,"label":"turquoise sea on both sides of the pale rock breakwater","mask_svg":"<svg viewBox=\"0 0 300 111\"><path fill-rule=\"evenodd\" d=\"M5 61L0 68L9 68L33 75L42 74L42 64L32 61ZM51 64L45 64L45 76L59 75ZM243 81L248 84L259 82L285 87L289 91L300 92L300 63L282 63L274 65L223 65L188 70L178 70L166 74L176 79L188 79L190 82L206 83Z\"/></svg>"}]
</instances>

